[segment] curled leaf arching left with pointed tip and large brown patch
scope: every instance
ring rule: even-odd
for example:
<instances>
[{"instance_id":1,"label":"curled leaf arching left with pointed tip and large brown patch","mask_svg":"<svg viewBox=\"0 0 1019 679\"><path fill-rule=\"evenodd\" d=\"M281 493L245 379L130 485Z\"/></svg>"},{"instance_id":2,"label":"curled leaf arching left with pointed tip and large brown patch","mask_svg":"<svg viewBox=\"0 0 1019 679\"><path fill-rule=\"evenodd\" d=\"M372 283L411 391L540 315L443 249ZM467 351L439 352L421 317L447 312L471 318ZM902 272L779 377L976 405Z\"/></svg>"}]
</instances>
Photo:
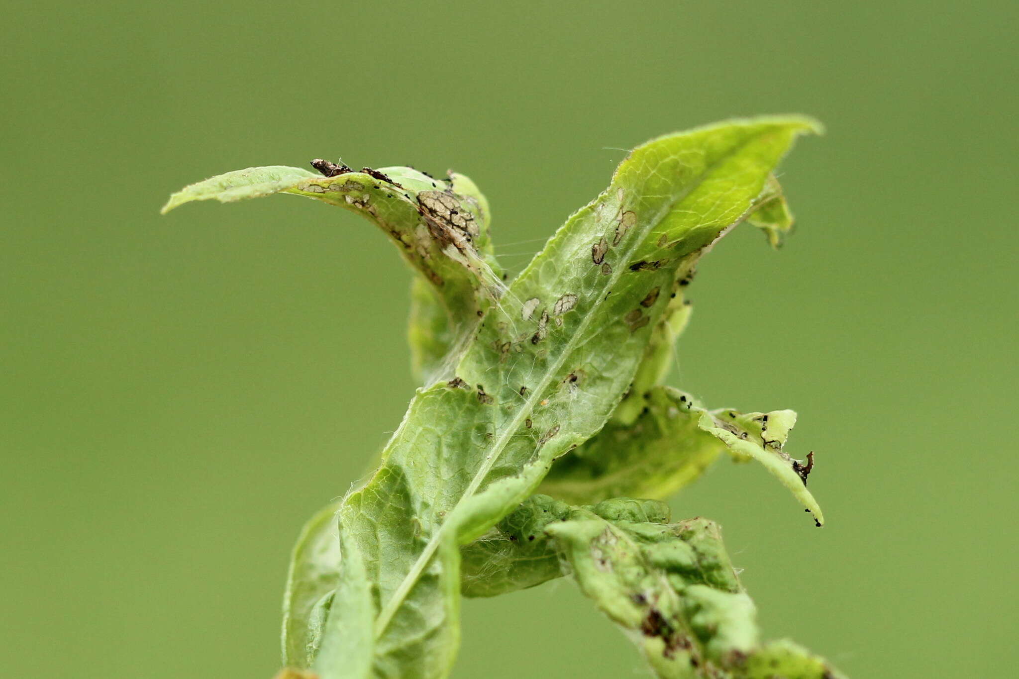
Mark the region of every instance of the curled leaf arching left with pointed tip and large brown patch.
<instances>
[{"instance_id":1,"label":"curled leaf arching left with pointed tip and large brown patch","mask_svg":"<svg viewBox=\"0 0 1019 679\"><path fill-rule=\"evenodd\" d=\"M375 223L427 283L415 281L413 360L430 381L451 372L455 354L505 289L492 256L488 203L468 177L447 180L408 167L322 176L271 166L227 172L170 196L165 214L193 201L223 203L284 193L356 212Z\"/></svg>"}]
</instances>

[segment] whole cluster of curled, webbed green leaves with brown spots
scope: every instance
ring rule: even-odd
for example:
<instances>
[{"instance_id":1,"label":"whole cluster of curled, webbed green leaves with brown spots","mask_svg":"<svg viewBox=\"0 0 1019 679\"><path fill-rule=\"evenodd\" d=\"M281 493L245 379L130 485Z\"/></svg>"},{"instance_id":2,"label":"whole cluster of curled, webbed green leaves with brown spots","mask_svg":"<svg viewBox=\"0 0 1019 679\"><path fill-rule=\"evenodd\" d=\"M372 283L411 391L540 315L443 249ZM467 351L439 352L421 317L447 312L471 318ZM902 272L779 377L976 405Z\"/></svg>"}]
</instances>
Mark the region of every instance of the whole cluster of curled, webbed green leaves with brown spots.
<instances>
[{"instance_id":1,"label":"whole cluster of curled, webbed green leaves with brown spots","mask_svg":"<svg viewBox=\"0 0 1019 679\"><path fill-rule=\"evenodd\" d=\"M444 677L462 596L569 573L658 676L836 676L762 642L717 527L669 523L659 502L725 452L761 463L823 521L806 489L812 456L785 450L794 412L709 410L661 384L700 258L743 221L775 246L790 232L773 172L812 131L793 116L734 120L638 147L509 282L487 202L463 175L316 161L322 175L249 168L171 196L164 211L276 192L355 211L418 274L422 386L375 472L294 549L288 672Z\"/></svg>"}]
</instances>

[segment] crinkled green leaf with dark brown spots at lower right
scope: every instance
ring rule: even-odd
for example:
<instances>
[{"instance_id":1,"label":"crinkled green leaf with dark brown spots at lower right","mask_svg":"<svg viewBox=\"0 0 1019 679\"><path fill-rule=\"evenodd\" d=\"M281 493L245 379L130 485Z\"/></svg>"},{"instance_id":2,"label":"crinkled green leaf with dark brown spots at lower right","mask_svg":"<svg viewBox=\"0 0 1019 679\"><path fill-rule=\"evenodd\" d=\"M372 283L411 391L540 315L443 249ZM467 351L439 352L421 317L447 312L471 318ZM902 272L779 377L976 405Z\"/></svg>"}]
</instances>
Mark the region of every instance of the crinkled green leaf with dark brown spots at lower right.
<instances>
[{"instance_id":1,"label":"crinkled green leaf with dark brown spots at lower right","mask_svg":"<svg viewBox=\"0 0 1019 679\"><path fill-rule=\"evenodd\" d=\"M837 677L799 646L761 644L753 602L711 521L608 521L575 509L545 532L583 592L637 643L658 677Z\"/></svg>"}]
</instances>

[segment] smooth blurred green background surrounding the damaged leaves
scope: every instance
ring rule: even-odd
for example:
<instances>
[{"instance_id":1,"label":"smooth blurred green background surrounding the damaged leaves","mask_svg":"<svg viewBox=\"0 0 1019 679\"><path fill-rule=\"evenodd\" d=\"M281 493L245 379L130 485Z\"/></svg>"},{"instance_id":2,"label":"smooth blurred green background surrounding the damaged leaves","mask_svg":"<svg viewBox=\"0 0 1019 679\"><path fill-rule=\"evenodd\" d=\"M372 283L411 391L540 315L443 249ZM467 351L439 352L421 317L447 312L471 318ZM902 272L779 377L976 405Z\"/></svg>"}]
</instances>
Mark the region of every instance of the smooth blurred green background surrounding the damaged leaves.
<instances>
[{"instance_id":1,"label":"smooth blurred green background surrounding the damaged leaves","mask_svg":"<svg viewBox=\"0 0 1019 679\"><path fill-rule=\"evenodd\" d=\"M823 530L728 462L765 633L862 677L1014 672L1015 2L4 3L0 668L277 669L288 551L415 387L409 271L355 215L167 194L251 165L454 168L519 270L623 149L803 112L770 251L691 286L673 383L792 407ZM454 676L641 676L567 581L464 605Z\"/></svg>"}]
</instances>

